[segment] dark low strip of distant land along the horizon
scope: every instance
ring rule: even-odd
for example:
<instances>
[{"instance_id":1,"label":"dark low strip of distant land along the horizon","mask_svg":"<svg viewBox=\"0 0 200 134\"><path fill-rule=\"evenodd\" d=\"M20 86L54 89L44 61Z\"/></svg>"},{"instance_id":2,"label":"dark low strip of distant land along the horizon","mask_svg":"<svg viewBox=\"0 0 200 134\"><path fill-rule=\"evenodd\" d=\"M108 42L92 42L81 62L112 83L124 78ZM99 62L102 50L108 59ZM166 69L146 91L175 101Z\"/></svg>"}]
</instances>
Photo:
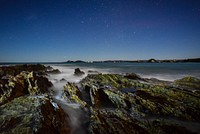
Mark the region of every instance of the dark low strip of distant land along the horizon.
<instances>
[{"instance_id":1,"label":"dark low strip of distant land along the horizon","mask_svg":"<svg viewBox=\"0 0 200 134\"><path fill-rule=\"evenodd\" d=\"M104 60L104 61L90 61L92 63L120 63L120 62L134 62L134 63L177 63L177 62L200 62L200 58L193 59L167 59L167 60L158 60L158 59L149 59L149 60ZM88 61L82 60L68 60L65 63L88 63Z\"/></svg>"}]
</instances>

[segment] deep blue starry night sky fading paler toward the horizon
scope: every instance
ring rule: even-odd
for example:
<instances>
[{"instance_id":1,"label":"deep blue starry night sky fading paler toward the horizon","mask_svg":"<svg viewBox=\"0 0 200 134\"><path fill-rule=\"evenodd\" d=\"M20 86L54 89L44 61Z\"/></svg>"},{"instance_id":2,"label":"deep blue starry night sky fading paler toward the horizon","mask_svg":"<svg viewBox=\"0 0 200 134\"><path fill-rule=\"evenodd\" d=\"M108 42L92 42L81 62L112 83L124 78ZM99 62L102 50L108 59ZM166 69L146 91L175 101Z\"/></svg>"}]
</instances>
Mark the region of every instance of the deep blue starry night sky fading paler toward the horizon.
<instances>
[{"instance_id":1,"label":"deep blue starry night sky fading paler toward the horizon","mask_svg":"<svg viewBox=\"0 0 200 134\"><path fill-rule=\"evenodd\" d=\"M200 57L200 0L0 0L0 62Z\"/></svg>"}]
</instances>

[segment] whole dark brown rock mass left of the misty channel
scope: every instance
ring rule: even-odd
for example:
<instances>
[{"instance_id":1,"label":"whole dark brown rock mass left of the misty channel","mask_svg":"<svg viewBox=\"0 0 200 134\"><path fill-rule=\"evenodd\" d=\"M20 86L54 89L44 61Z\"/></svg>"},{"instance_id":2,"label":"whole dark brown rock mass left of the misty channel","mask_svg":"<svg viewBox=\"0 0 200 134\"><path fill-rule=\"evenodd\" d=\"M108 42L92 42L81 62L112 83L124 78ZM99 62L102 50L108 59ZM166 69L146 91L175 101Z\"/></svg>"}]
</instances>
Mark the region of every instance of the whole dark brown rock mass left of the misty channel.
<instances>
[{"instance_id":1,"label":"whole dark brown rock mass left of the misty channel","mask_svg":"<svg viewBox=\"0 0 200 134\"><path fill-rule=\"evenodd\" d=\"M0 133L70 133L68 115L50 99L43 65L0 67Z\"/></svg>"}]
</instances>

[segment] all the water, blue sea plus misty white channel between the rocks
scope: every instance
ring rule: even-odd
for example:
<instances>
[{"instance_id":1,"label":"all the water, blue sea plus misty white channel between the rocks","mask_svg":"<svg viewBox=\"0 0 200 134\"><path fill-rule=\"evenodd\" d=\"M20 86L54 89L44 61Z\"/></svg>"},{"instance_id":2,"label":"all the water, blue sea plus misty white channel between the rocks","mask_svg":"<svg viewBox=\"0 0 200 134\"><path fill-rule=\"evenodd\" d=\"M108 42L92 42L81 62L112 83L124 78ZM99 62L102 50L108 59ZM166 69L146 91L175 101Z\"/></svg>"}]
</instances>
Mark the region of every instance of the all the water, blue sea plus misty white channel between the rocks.
<instances>
[{"instance_id":1,"label":"all the water, blue sea plus misty white channel between the rocks","mask_svg":"<svg viewBox=\"0 0 200 134\"><path fill-rule=\"evenodd\" d=\"M54 69L59 69L61 71L59 74L51 74L49 79L54 85L52 87L52 90L54 91L54 100L69 115L72 134L87 133L86 128L89 122L89 113L88 111L81 109L79 104L62 99L61 96L64 85L66 85L67 82L78 83L88 74L97 72L103 74L136 73L141 77L157 78L167 81L173 81L185 76L195 76L200 78L200 63L66 63L51 64L51 66ZM75 68L80 68L85 74L82 76L75 76ZM129 91L129 89L121 90L124 92Z\"/></svg>"}]
</instances>

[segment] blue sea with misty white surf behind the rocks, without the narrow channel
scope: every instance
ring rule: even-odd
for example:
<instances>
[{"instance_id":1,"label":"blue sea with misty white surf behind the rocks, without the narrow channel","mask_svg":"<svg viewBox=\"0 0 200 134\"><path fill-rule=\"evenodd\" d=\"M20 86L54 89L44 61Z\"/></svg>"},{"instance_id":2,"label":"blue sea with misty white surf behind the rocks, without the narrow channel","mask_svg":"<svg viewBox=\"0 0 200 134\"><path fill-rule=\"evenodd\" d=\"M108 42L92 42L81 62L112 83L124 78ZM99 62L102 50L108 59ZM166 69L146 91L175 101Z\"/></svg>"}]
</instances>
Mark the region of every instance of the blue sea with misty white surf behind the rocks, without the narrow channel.
<instances>
[{"instance_id":1,"label":"blue sea with misty white surf behind the rocks, without the narrow channel","mask_svg":"<svg viewBox=\"0 0 200 134\"><path fill-rule=\"evenodd\" d=\"M54 79L64 78L69 82L79 82L87 76L88 71L97 71L103 74L136 73L144 78L157 78L166 81L174 81L185 76L200 78L200 63L65 63L50 64L50 66L62 72L54 75ZM81 77L74 76L75 68L80 68L81 71L85 72L85 75Z\"/></svg>"}]
</instances>

